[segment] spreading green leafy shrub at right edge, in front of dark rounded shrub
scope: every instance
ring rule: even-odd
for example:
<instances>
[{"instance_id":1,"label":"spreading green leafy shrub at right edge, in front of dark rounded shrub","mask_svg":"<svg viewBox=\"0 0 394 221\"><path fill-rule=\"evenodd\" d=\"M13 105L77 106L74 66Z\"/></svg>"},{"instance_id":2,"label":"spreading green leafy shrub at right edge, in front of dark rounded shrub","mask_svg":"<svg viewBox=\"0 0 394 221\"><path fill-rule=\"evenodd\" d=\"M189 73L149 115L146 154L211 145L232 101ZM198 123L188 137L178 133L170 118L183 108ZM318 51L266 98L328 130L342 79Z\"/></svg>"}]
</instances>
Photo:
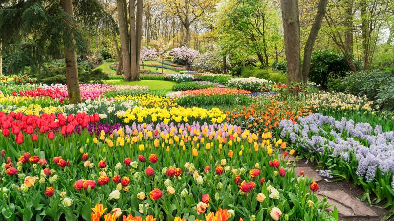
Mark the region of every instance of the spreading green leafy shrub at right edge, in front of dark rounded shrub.
<instances>
[{"instance_id":1,"label":"spreading green leafy shrub at right edge, in front of dark rounded shrub","mask_svg":"<svg viewBox=\"0 0 394 221\"><path fill-rule=\"evenodd\" d=\"M394 71L359 71L332 81L331 88L358 96L366 95L382 110L394 111Z\"/></svg>"}]
</instances>

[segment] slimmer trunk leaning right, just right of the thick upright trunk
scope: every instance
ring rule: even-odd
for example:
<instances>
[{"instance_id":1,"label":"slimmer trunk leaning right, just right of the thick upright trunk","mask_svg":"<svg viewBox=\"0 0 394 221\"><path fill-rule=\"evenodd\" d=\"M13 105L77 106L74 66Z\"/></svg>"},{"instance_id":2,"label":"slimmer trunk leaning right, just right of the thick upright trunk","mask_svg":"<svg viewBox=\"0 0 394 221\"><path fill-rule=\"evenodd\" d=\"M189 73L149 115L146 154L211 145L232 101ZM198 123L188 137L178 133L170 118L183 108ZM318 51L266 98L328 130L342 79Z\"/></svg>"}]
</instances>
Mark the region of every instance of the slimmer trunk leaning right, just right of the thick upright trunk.
<instances>
[{"instance_id":1,"label":"slimmer trunk leaning right, just right of the thick upright trunk","mask_svg":"<svg viewBox=\"0 0 394 221\"><path fill-rule=\"evenodd\" d=\"M304 63L302 66L302 80L304 83L308 82L309 70L311 67L312 49L315 44L320 26L322 25L323 16L326 10L327 0L320 0L315 21L312 24L311 32L309 33L308 40L304 47Z\"/></svg>"}]
</instances>

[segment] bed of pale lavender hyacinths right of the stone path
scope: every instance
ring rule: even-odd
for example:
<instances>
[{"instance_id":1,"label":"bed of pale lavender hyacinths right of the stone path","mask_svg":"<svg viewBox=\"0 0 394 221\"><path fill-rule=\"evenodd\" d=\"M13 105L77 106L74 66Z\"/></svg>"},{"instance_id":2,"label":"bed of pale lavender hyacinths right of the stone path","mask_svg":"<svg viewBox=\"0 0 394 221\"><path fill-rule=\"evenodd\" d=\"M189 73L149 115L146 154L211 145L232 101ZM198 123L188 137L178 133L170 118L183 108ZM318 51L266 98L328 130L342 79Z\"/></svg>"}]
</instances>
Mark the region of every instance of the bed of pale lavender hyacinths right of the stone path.
<instances>
[{"instance_id":1,"label":"bed of pale lavender hyacinths right of the stone path","mask_svg":"<svg viewBox=\"0 0 394 221\"><path fill-rule=\"evenodd\" d=\"M357 123L322 114L302 117L296 124L290 120L279 123L281 138L289 136L292 143L309 151L328 153L349 162L352 152L358 162L356 174L367 180L375 178L376 169L394 173L394 132L383 132L368 123ZM394 189L394 182L392 182Z\"/></svg>"}]
</instances>

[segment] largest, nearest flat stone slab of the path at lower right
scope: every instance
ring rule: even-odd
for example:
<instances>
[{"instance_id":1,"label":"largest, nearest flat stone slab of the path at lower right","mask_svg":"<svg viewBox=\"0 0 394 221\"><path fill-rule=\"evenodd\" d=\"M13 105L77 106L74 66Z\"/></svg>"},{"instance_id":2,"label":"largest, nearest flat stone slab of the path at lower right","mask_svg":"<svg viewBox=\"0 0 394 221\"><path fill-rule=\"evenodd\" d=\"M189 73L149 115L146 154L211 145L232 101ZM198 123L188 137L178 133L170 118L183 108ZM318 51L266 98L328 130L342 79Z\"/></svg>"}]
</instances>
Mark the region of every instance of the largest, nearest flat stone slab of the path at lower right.
<instances>
[{"instance_id":1,"label":"largest, nearest flat stone slab of the path at lower right","mask_svg":"<svg viewBox=\"0 0 394 221\"><path fill-rule=\"evenodd\" d=\"M334 206L338 213L343 217L377 217L378 215L368 206L355 197L341 190L320 191L318 198L323 199L323 195L327 196L328 203L332 206L328 211L334 211Z\"/></svg>"}]
</instances>

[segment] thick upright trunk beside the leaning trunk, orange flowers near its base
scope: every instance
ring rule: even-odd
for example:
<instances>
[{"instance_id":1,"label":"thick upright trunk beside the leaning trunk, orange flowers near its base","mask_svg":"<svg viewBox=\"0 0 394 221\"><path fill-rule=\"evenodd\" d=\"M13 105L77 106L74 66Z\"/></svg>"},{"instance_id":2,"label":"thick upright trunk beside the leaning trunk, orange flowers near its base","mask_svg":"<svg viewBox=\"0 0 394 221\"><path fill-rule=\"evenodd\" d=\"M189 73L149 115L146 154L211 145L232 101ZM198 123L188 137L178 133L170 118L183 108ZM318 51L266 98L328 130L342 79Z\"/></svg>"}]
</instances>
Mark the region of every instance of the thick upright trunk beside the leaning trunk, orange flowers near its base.
<instances>
[{"instance_id":1,"label":"thick upright trunk beside the leaning trunk, orange flowers near its base","mask_svg":"<svg viewBox=\"0 0 394 221\"><path fill-rule=\"evenodd\" d=\"M280 6L287 60L287 85L290 85L302 81L298 0L281 0ZM296 92L290 86L288 89L291 93Z\"/></svg>"}]
</instances>

